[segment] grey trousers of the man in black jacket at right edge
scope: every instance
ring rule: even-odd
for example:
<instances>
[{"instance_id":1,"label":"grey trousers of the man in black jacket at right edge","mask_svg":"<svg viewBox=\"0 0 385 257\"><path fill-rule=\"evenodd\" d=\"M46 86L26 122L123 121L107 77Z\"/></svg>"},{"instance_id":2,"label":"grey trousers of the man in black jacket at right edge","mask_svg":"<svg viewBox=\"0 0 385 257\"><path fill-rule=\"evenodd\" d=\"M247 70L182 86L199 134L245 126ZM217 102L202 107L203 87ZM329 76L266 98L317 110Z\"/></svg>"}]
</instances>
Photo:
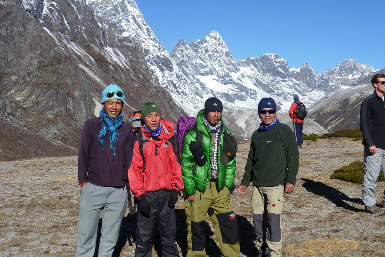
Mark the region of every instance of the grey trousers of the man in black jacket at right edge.
<instances>
[{"instance_id":1,"label":"grey trousers of the man in black jacket at right edge","mask_svg":"<svg viewBox=\"0 0 385 257\"><path fill-rule=\"evenodd\" d=\"M365 153L365 165L363 168L362 201L367 206L373 206L375 200L375 188L377 179L382 167L382 174L385 172L385 149L377 148L377 152L372 154L367 146L363 148ZM385 192L382 197L385 200Z\"/></svg>"}]
</instances>

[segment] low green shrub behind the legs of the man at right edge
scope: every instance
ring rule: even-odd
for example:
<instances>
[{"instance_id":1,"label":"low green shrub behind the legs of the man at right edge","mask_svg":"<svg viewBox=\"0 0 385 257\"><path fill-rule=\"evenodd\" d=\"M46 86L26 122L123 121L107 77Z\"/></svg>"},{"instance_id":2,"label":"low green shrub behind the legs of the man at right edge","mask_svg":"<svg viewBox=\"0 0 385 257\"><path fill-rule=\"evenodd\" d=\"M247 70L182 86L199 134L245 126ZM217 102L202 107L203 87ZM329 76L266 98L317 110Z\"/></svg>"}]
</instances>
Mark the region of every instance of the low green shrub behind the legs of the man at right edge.
<instances>
[{"instance_id":1,"label":"low green shrub behind the legs of the man at right edge","mask_svg":"<svg viewBox=\"0 0 385 257\"><path fill-rule=\"evenodd\" d=\"M331 175L332 179L340 179L354 184L363 183L363 161L355 161L349 165L336 169ZM377 181L385 181L382 172L379 174Z\"/></svg>"}]
</instances>

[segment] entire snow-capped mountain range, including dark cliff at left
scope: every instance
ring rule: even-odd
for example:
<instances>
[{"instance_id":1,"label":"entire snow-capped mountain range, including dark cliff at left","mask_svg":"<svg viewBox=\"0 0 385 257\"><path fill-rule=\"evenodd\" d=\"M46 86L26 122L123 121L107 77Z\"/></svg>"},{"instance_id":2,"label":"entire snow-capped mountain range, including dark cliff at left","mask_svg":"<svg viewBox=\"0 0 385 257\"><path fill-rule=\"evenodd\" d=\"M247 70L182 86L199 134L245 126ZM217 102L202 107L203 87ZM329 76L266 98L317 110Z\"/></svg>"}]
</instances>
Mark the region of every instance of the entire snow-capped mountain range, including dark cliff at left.
<instances>
[{"instance_id":1,"label":"entire snow-capped mountain range, including dark cliff at left","mask_svg":"<svg viewBox=\"0 0 385 257\"><path fill-rule=\"evenodd\" d=\"M289 69L270 53L235 60L216 31L191 44L180 40L168 53L133 0L9 0L0 7L0 116L75 147L110 83L127 92L125 115L155 101L174 122L218 97L226 124L247 138L261 98L273 97L287 116L294 94L311 108L374 71L353 59L322 74L308 63Z\"/></svg>"}]
</instances>

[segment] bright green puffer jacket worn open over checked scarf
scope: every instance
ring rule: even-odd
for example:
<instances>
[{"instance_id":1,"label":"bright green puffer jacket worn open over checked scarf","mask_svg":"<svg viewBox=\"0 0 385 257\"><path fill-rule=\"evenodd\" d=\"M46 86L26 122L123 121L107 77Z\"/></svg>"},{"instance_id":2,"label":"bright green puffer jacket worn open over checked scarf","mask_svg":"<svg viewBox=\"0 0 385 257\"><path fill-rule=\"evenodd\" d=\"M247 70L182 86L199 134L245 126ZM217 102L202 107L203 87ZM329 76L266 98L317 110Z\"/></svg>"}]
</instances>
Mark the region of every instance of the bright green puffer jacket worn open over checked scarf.
<instances>
[{"instance_id":1,"label":"bright green puffer jacket worn open over checked scarf","mask_svg":"<svg viewBox=\"0 0 385 257\"><path fill-rule=\"evenodd\" d=\"M197 134L194 130L190 130L187 132L186 138L183 141L182 146L182 155L181 155L181 166L182 166L182 174L184 181L184 189L187 195L193 195L196 190L201 193L205 192L207 184L210 179L210 171L211 171L211 161L212 161L212 153L213 153L213 140L211 137L209 126L206 127L203 124L203 109L200 110L197 114L196 126L198 130L202 133L202 142L203 148L202 151L206 157L206 163L204 166L197 166L195 174L193 175L193 166L194 166L194 157L191 151L189 150L190 142L197 142ZM221 136L220 136L220 144L218 146L218 179L216 181L217 190L222 190L225 186L229 189L233 186L234 183L234 175L235 175L235 155L230 157L227 166L222 165L220 162L221 150L223 147L223 129L227 129L224 126L223 119L221 118L222 126ZM228 134L230 134L230 130L227 129Z\"/></svg>"}]
</instances>

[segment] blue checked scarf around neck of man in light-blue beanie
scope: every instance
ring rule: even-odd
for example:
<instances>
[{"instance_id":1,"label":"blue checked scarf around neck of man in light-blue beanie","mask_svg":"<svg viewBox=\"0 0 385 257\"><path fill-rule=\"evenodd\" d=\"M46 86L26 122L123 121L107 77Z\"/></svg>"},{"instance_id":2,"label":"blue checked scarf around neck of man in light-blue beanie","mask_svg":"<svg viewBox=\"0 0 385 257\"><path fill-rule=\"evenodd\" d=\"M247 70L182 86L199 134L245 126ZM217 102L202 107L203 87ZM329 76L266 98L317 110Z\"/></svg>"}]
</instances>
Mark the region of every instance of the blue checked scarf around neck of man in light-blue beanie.
<instances>
[{"instance_id":1,"label":"blue checked scarf around neck of man in light-blue beanie","mask_svg":"<svg viewBox=\"0 0 385 257\"><path fill-rule=\"evenodd\" d=\"M108 131L110 133L110 147L114 153L115 160L115 144L116 139L118 138L119 127L123 124L123 112L120 112L117 117L110 117L107 115L104 109L101 109L99 115L100 121L102 122L102 127L100 128L99 133L99 143L102 145L103 151L103 140Z\"/></svg>"}]
</instances>

